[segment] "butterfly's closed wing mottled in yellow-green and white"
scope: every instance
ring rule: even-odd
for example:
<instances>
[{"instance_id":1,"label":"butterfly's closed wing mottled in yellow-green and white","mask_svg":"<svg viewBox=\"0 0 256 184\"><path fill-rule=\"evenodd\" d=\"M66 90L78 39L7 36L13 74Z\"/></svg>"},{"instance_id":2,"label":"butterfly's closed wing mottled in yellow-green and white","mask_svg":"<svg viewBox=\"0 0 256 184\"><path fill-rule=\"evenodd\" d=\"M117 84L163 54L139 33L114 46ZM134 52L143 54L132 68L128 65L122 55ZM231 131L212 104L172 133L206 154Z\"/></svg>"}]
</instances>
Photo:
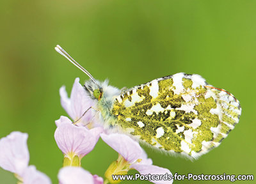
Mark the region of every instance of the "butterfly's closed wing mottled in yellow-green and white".
<instances>
[{"instance_id":1,"label":"butterfly's closed wing mottled in yellow-green and white","mask_svg":"<svg viewBox=\"0 0 256 184\"><path fill-rule=\"evenodd\" d=\"M241 107L200 75L177 73L125 91L112 113L122 132L154 148L198 158L227 137Z\"/></svg>"}]
</instances>

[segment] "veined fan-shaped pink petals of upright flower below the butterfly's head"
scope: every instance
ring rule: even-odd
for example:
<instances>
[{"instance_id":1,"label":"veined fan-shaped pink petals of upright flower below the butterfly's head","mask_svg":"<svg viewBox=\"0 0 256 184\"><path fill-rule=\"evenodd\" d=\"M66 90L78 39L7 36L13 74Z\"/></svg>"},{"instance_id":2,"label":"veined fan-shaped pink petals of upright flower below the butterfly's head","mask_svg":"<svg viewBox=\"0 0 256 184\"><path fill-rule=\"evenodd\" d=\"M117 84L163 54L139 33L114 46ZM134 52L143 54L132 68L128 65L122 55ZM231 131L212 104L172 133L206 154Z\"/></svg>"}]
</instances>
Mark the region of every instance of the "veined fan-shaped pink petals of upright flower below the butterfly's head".
<instances>
[{"instance_id":1,"label":"veined fan-shaped pink petals of upright flower below the butterfly's head","mask_svg":"<svg viewBox=\"0 0 256 184\"><path fill-rule=\"evenodd\" d=\"M88 130L85 127L77 127L67 121L67 118L62 118L65 121L58 121L58 128L55 131L54 138L60 150L65 153L76 153L79 157L90 153L97 143L97 137L94 131Z\"/></svg>"}]
</instances>

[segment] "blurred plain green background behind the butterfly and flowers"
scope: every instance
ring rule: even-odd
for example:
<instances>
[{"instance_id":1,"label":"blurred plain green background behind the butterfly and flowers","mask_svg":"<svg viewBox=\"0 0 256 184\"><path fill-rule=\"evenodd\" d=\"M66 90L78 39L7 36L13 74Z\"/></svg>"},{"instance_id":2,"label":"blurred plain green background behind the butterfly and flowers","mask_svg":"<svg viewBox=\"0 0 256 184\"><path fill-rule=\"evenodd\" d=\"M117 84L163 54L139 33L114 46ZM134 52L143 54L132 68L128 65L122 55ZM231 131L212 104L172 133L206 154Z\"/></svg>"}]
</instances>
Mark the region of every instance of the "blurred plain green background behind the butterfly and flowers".
<instances>
[{"instance_id":1,"label":"blurred plain green background behind the butterfly and flowers","mask_svg":"<svg viewBox=\"0 0 256 184\"><path fill-rule=\"evenodd\" d=\"M58 91L65 85L70 93L76 77L88 79L54 50L60 44L96 79L108 78L118 88L186 72L233 93L242 116L218 148L195 162L145 149L155 165L172 173L256 175L255 8L252 0L2 0L0 137L28 132L29 164L58 183L63 156L54 141L54 120L67 116ZM100 140L82 164L104 176L117 156ZM16 181L1 168L0 178Z\"/></svg>"}]
</instances>

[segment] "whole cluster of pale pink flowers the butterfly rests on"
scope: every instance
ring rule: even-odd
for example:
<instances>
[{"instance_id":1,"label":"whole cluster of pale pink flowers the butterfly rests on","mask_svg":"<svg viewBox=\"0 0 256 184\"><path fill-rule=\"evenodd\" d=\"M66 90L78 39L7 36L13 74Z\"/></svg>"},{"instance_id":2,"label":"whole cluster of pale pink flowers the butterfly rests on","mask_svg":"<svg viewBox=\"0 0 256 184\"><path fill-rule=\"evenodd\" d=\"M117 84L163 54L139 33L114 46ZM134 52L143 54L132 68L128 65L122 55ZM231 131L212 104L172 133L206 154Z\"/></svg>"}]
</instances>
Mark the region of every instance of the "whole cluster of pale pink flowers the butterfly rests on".
<instances>
[{"instance_id":1,"label":"whole cluster of pale pink flowers the butterfly rests on","mask_svg":"<svg viewBox=\"0 0 256 184\"><path fill-rule=\"evenodd\" d=\"M70 98L65 87L60 89L61 105L72 120L61 116L56 120L54 138L63 153L63 168L60 169L60 184L79 183L119 183L113 180L113 174L125 175L131 169L141 174L170 174L168 169L152 165L152 160L140 147L138 142L124 134L107 134L100 123L95 120L95 102L88 96L77 78L74 82ZM86 112L86 113L84 113ZM117 160L106 169L105 180L92 175L81 167L81 159L90 153L99 137L118 153ZM51 180L35 166L28 166L29 152L26 141L27 134L12 132L0 140L0 166L15 173L20 183L51 183ZM153 183L172 183L170 180L152 180Z\"/></svg>"}]
</instances>

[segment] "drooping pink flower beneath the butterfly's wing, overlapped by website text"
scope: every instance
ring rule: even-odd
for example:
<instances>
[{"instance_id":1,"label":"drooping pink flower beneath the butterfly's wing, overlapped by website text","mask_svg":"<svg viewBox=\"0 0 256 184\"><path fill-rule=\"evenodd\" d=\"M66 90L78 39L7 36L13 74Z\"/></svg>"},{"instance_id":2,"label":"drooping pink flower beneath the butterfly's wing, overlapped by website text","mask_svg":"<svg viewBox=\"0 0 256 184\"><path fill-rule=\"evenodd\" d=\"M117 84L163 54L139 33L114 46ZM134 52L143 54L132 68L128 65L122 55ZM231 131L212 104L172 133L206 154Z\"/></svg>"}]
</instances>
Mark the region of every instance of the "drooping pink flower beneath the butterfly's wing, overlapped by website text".
<instances>
[{"instance_id":1,"label":"drooping pink flower beneath the butterfly's wing, overlapped by website text","mask_svg":"<svg viewBox=\"0 0 256 184\"><path fill-rule=\"evenodd\" d=\"M129 169L136 169L140 172L140 174L169 174L172 176L172 173L163 167L158 167L156 165L152 165L152 160L147 158L147 154L140 147L140 144L131 137L124 134L100 134L100 137L104 142L106 142L111 148L113 148L116 152L120 154L121 157L118 158L117 162L120 162L122 167L116 164L113 164L109 171L113 171L116 168L125 168L127 171ZM124 159L124 160L123 160ZM124 169L122 169L124 171ZM118 174L119 171L116 171ZM106 172L108 174L108 171ZM124 173L122 173L124 174ZM110 177L106 176L108 180L111 180ZM172 180L151 180L153 183L172 183Z\"/></svg>"}]
</instances>

